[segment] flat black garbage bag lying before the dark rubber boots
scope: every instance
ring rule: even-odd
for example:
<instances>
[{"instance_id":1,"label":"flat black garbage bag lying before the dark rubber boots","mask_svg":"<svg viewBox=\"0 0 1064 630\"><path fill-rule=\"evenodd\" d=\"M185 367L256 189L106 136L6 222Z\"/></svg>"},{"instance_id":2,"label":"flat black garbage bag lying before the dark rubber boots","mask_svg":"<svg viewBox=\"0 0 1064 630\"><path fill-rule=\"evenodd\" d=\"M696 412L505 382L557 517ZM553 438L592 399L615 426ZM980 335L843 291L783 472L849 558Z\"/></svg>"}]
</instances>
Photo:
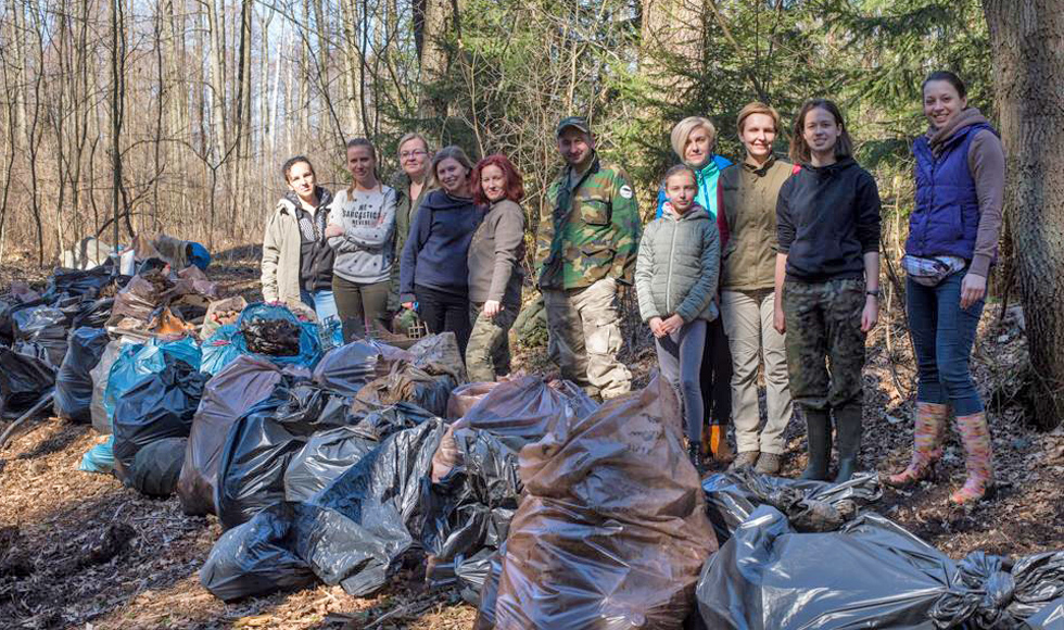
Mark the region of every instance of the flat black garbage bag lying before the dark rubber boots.
<instances>
[{"instance_id":1,"label":"flat black garbage bag lying before the dark rubber boots","mask_svg":"<svg viewBox=\"0 0 1064 630\"><path fill-rule=\"evenodd\" d=\"M845 483L784 479L749 469L713 475L702 481L706 509L723 543L761 505L772 505L798 531L833 531L859 508L883 496L875 472L859 472Z\"/></svg>"}]
</instances>

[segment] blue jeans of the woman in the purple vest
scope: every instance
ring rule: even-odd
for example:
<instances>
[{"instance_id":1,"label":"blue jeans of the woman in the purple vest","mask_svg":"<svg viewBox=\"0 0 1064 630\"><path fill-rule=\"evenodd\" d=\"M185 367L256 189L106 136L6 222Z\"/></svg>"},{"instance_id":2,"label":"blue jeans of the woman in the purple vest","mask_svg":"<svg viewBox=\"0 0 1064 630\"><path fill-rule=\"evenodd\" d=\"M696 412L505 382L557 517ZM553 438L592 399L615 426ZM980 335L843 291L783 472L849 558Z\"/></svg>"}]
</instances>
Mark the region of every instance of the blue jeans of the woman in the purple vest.
<instances>
[{"instance_id":1,"label":"blue jeans of the woman in the purple vest","mask_svg":"<svg viewBox=\"0 0 1064 630\"><path fill-rule=\"evenodd\" d=\"M935 287L912 279L905 286L909 327L916 350L916 400L948 403L958 416L984 410L968 367L984 301L961 308L961 280L966 273L967 268L958 272Z\"/></svg>"}]
</instances>

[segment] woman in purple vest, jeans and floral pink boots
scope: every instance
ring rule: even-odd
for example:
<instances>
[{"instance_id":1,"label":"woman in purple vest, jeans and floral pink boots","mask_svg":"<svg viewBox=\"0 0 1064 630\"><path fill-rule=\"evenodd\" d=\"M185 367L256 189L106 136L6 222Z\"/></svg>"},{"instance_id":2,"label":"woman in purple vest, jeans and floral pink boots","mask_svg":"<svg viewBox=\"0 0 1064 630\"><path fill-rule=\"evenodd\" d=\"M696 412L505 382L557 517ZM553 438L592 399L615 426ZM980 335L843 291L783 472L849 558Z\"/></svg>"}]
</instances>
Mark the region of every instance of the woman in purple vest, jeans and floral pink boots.
<instances>
[{"instance_id":1,"label":"woman in purple vest, jeans and floral pink boots","mask_svg":"<svg viewBox=\"0 0 1064 630\"><path fill-rule=\"evenodd\" d=\"M923 92L930 128L913 143L916 206L902 259L919 370L915 445L909 467L887 482L905 486L933 474L953 407L967 480L950 502L966 504L983 499L993 480L986 412L968 361L1001 227L1005 160L997 131L967 106L957 75L932 73Z\"/></svg>"}]
</instances>

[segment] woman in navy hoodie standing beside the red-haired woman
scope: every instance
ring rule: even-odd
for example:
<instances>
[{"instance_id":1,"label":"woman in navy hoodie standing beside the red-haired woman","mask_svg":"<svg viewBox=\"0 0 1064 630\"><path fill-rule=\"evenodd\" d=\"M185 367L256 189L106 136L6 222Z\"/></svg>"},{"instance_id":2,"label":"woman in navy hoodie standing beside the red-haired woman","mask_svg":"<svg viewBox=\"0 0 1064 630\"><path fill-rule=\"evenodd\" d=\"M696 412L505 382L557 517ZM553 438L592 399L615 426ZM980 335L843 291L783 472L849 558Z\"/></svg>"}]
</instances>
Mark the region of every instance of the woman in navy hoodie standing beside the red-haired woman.
<instances>
[{"instance_id":1,"label":"woman in navy hoodie standing beside the red-haired woman","mask_svg":"<svg viewBox=\"0 0 1064 630\"><path fill-rule=\"evenodd\" d=\"M413 308L416 300L429 330L454 332L463 356L472 328L469 241L484 216L472 200L472 169L458 147L446 147L432 158L429 176L438 190L425 198L410 224L400 267L403 307Z\"/></svg>"}]
</instances>

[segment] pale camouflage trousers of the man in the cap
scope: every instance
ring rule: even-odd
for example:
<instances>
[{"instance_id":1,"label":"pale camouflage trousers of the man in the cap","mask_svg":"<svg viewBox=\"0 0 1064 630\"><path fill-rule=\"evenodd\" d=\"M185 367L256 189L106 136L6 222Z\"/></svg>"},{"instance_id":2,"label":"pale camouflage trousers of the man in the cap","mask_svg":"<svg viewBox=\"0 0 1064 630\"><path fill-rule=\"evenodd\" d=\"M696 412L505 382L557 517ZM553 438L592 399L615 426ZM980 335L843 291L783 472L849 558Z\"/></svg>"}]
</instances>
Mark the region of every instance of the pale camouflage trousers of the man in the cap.
<instances>
[{"instance_id":1,"label":"pale camouflage trousers of the man in the cap","mask_svg":"<svg viewBox=\"0 0 1064 630\"><path fill-rule=\"evenodd\" d=\"M543 304L548 352L562 378L603 399L631 391L632 373L617 361L622 344L617 280L603 278L583 289L544 289Z\"/></svg>"}]
</instances>

